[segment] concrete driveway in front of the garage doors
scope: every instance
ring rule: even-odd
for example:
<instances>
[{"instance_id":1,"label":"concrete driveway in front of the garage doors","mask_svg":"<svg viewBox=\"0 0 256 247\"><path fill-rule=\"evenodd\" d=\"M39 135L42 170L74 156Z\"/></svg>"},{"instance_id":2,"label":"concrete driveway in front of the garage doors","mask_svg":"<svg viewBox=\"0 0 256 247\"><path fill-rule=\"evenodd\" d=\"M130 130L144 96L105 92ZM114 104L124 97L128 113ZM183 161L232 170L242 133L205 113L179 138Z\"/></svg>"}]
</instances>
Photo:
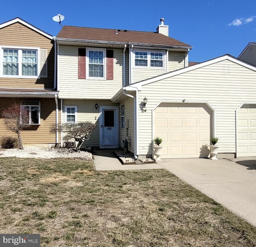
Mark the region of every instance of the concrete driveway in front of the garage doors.
<instances>
[{"instance_id":1,"label":"concrete driveway in front of the garage doors","mask_svg":"<svg viewBox=\"0 0 256 247\"><path fill-rule=\"evenodd\" d=\"M256 158L177 159L158 164L256 226Z\"/></svg>"}]
</instances>

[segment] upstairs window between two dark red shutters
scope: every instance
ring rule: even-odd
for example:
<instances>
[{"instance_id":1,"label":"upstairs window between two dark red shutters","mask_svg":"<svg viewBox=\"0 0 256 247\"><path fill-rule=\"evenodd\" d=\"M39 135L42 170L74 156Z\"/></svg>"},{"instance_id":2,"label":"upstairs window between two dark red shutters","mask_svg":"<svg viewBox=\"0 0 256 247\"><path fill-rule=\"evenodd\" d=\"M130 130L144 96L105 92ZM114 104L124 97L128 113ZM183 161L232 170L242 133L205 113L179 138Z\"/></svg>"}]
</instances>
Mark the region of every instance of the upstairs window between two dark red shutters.
<instances>
[{"instance_id":1,"label":"upstairs window between two dark red shutters","mask_svg":"<svg viewBox=\"0 0 256 247\"><path fill-rule=\"evenodd\" d=\"M86 49L87 77L104 79L106 67L106 49Z\"/></svg>"}]
</instances>

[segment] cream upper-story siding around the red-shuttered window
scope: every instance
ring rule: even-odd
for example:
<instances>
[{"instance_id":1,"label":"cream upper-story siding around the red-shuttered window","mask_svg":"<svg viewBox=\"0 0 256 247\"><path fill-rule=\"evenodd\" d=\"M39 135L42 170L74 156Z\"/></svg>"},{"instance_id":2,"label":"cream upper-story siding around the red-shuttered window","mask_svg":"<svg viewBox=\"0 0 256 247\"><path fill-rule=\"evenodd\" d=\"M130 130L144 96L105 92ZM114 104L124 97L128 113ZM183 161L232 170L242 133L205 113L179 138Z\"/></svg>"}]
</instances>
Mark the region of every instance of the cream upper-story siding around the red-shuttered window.
<instances>
[{"instance_id":1,"label":"cream upper-story siding around the red-shuttered window","mask_svg":"<svg viewBox=\"0 0 256 247\"><path fill-rule=\"evenodd\" d=\"M123 50L114 49L114 79L78 79L78 47L59 46L59 97L67 99L111 99L122 87ZM88 73L88 71L86 71Z\"/></svg>"}]
</instances>

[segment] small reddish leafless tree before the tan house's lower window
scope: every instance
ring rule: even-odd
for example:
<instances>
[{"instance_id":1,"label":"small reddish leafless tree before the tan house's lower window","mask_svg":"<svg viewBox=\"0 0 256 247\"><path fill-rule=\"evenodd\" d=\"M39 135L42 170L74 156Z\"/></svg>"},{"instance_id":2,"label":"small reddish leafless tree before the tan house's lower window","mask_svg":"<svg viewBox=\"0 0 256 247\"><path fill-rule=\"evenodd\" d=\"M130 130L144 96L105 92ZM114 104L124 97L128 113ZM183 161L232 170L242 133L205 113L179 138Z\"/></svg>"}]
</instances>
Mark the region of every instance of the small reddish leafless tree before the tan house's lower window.
<instances>
[{"instance_id":1,"label":"small reddish leafless tree before the tan house's lower window","mask_svg":"<svg viewBox=\"0 0 256 247\"><path fill-rule=\"evenodd\" d=\"M23 149L20 131L30 126L29 112L20 103L13 103L2 110L2 118L6 128L18 135L20 149Z\"/></svg>"}]
</instances>

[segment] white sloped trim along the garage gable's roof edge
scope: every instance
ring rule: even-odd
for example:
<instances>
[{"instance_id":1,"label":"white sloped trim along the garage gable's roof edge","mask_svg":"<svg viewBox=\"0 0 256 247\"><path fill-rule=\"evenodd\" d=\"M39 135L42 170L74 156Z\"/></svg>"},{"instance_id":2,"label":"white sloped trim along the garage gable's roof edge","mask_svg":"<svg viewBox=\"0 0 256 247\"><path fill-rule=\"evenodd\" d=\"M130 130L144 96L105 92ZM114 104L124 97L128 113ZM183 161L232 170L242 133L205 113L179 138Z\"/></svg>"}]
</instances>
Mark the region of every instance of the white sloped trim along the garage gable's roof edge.
<instances>
[{"instance_id":1,"label":"white sloped trim along the garage gable's roof edge","mask_svg":"<svg viewBox=\"0 0 256 247\"><path fill-rule=\"evenodd\" d=\"M226 55L223 55L221 57L216 57L214 59L204 61L202 63L197 63L197 64L191 65L189 67L185 67L185 68L178 69L178 70L175 70L175 71L163 74L163 75L158 75L156 77L146 79L144 81L133 83L132 85L129 85L129 86L125 87L125 89L129 90L129 87L131 87L131 88L134 88L134 87L140 88L143 85L146 85L146 84L149 84L149 83L152 83L152 82L155 82L155 81L160 81L160 80L163 80L163 79L166 79L166 78L169 78L169 77L173 77L175 75L180 75L180 74L183 74L183 73L195 70L195 69L199 69L199 68L205 67L207 65L218 63L218 62L224 61L224 60L232 61L232 62L240 64L240 65L242 65L242 66L244 66L248 69L252 69L253 71L256 71L256 66L253 66L253 65L251 65L249 63L246 63L246 62L244 62L240 59L237 59L236 57L232 57L231 55L226 54Z\"/></svg>"}]
</instances>

